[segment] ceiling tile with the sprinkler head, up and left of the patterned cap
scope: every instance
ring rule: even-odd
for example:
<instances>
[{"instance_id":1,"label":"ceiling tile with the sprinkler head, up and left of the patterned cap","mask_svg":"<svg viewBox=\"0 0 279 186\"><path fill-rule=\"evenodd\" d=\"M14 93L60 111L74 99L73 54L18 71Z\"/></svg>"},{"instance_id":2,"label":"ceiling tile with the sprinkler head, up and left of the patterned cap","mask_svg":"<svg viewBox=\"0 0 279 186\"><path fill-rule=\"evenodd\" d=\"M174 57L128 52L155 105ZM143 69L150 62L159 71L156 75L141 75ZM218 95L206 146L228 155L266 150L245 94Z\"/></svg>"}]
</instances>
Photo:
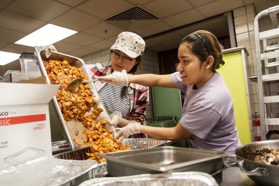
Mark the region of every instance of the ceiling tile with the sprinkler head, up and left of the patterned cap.
<instances>
[{"instance_id":1,"label":"ceiling tile with the sprinkler head, up and left of the patterned cap","mask_svg":"<svg viewBox=\"0 0 279 186\"><path fill-rule=\"evenodd\" d=\"M105 30L107 30L107 33L105 33ZM114 35L118 35L121 32L124 32L124 29L118 28L116 26L106 24L106 23L100 23L97 25L94 25L82 32L89 33L91 35L98 36L100 38L109 38Z\"/></svg>"}]
</instances>

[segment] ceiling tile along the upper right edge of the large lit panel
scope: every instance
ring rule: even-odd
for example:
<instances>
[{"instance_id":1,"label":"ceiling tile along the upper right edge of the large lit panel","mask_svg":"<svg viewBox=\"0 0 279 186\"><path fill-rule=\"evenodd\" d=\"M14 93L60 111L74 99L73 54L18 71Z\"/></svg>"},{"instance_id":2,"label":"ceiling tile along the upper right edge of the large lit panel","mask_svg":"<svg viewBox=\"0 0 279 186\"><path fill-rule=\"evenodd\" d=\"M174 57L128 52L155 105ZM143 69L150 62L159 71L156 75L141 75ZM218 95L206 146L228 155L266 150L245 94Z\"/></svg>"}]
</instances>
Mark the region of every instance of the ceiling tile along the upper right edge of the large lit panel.
<instances>
[{"instance_id":1,"label":"ceiling tile along the upper right edge of the large lit panel","mask_svg":"<svg viewBox=\"0 0 279 186\"><path fill-rule=\"evenodd\" d=\"M82 11L72 9L55 18L51 23L75 31L82 31L99 23L99 19Z\"/></svg>"}]
</instances>

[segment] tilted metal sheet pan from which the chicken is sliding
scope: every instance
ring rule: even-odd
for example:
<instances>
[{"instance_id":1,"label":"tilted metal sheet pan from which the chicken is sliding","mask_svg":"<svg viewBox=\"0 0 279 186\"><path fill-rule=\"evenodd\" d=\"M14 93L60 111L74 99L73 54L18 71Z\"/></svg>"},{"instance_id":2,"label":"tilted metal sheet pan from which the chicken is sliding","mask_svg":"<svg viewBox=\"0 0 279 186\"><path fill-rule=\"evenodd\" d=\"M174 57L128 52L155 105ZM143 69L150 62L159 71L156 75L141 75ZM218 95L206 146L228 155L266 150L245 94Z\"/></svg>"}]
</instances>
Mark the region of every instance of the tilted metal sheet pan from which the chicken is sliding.
<instances>
[{"instance_id":1,"label":"tilted metal sheet pan from which the chicken is sliding","mask_svg":"<svg viewBox=\"0 0 279 186\"><path fill-rule=\"evenodd\" d=\"M35 51L36 51L37 56L38 56L39 69L42 73L42 76L47 77L47 83L48 84L51 84L51 83L50 83L49 78L47 76L47 71L46 71L46 69L43 65L43 61L48 63L49 60L59 60L59 61L67 60L70 65L72 65L72 66L74 65L76 68L81 68L84 75L88 76L88 80L91 79L91 77L90 77L90 75L89 75L89 73L86 69L85 63L83 62L82 59L79 59L77 57L73 57L73 56L70 56L70 55L62 54L62 53L59 53L59 52L55 52L55 51L53 51L52 54L49 56L49 58L47 58L46 57L46 50L44 48L41 48L41 47L35 47ZM100 96L97 92L97 89L96 89L94 83L92 83L92 82L89 83L89 86L90 86L89 90L92 91L92 96L94 97L94 99L96 101L96 103L94 105L94 108L100 107L100 108L103 109L103 112L101 112L99 117L98 117L99 120L106 119L107 121L110 121L110 118L108 117L108 113L106 112L106 109L104 108L104 104L102 103L102 101L100 99ZM83 133L80 132L79 135L75 135L76 131L83 131L85 129L85 127L82 125L82 123L72 119L70 122L67 122L67 124L66 124L55 96L53 97L52 102L53 102L53 105L55 106L56 115L60 120L61 128L64 129L64 130L62 130L63 135L64 135L65 139L67 140L68 144L72 147L72 149L73 150L78 150L80 148L89 147L90 144L84 144L83 143L83 139L86 139L86 134L83 134ZM90 113L92 113L92 112L90 111ZM88 113L86 113L86 114L88 114ZM114 137L116 136L115 129L114 129L113 126L107 126L106 130L107 131L112 130L113 131L113 136ZM76 144L73 141L72 138L74 138L75 140L78 140L81 144L81 147L78 144Z\"/></svg>"}]
</instances>

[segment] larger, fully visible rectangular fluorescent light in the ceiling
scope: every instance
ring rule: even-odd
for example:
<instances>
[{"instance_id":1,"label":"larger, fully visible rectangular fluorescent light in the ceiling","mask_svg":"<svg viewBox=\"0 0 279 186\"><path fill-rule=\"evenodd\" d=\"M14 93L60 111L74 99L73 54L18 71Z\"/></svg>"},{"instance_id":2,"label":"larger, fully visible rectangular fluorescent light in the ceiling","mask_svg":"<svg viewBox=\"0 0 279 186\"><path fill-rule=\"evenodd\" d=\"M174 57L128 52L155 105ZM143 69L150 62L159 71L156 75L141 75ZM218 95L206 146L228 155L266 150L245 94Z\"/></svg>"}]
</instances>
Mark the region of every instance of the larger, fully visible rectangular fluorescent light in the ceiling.
<instances>
[{"instance_id":1,"label":"larger, fully visible rectangular fluorescent light in the ceiling","mask_svg":"<svg viewBox=\"0 0 279 186\"><path fill-rule=\"evenodd\" d=\"M75 33L78 32L53 24L47 24L46 26L43 26L42 28L16 41L15 44L26 45L30 47L41 45L45 46L58 42L64 38L68 38Z\"/></svg>"}]
</instances>

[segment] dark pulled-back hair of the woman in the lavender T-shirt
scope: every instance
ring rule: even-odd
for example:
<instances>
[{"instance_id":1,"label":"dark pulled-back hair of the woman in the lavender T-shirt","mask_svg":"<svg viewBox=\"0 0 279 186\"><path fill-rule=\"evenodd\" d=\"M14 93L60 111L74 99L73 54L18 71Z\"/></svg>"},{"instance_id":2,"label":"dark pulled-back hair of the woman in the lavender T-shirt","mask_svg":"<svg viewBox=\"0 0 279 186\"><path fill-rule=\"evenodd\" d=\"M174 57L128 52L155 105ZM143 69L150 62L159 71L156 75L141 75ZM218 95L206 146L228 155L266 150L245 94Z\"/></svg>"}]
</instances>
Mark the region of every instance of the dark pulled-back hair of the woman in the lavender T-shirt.
<instances>
[{"instance_id":1,"label":"dark pulled-back hair of the woman in the lavender T-shirt","mask_svg":"<svg viewBox=\"0 0 279 186\"><path fill-rule=\"evenodd\" d=\"M213 72L225 64L220 44L212 33L206 30L196 31L182 39L181 44L185 43L185 46L199 58L201 63L206 61L208 56L213 56L214 62L211 67Z\"/></svg>"}]
</instances>

